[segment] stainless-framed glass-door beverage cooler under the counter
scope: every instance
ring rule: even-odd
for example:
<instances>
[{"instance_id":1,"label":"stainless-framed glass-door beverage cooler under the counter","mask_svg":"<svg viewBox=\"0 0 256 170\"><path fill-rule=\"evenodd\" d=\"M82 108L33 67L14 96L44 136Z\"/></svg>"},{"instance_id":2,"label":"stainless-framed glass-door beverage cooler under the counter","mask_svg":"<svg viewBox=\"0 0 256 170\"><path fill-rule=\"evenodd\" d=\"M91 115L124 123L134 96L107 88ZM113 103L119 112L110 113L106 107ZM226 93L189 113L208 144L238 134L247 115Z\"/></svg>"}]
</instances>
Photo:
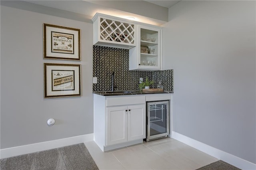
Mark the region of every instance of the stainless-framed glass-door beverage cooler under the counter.
<instances>
[{"instance_id":1,"label":"stainless-framed glass-door beverage cooler under the counter","mask_svg":"<svg viewBox=\"0 0 256 170\"><path fill-rule=\"evenodd\" d=\"M147 102L146 141L167 137L169 134L169 100Z\"/></svg>"}]
</instances>

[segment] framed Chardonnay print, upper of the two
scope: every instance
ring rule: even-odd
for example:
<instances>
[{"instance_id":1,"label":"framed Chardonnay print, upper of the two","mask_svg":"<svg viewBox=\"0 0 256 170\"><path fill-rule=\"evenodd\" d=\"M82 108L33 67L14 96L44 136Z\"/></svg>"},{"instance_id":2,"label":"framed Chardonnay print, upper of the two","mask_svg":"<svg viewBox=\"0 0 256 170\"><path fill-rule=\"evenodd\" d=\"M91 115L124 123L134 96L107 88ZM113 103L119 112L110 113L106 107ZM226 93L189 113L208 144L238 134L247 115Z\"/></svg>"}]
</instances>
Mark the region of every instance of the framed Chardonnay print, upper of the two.
<instances>
[{"instance_id":1,"label":"framed Chardonnay print, upper of the two","mask_svg":"<svg viewBox=\"0 0 256 170\"><path fill-rule=\"evenodd\" d=\"M80 61L80 29L44 24L44 58Z\"/></svg>"}]
</instances>

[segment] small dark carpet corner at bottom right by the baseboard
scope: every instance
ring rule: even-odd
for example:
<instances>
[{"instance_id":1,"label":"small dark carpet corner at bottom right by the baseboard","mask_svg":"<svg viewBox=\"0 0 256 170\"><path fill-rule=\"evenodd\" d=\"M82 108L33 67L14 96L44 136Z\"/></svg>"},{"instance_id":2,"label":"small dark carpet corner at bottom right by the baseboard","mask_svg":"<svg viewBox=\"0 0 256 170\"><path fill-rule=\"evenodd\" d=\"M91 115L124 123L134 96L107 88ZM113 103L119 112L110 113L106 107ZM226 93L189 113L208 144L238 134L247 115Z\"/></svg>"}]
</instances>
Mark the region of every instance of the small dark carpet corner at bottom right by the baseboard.
<instances>
[{"instance_id":1,"label":"small dark carpet corner at bottom right by the baseboard","mask_svg":"<svg viewBox=\"0 0 256 170\"><path fill-rule=\"evenodd\" d=\"M236 168L235 166L230 165L227 162L224 162L222 160L218 160L216 162L213 162L211 164L198 168L197 170L241 170L241 169Z\"/></svg>"}]
</instances>

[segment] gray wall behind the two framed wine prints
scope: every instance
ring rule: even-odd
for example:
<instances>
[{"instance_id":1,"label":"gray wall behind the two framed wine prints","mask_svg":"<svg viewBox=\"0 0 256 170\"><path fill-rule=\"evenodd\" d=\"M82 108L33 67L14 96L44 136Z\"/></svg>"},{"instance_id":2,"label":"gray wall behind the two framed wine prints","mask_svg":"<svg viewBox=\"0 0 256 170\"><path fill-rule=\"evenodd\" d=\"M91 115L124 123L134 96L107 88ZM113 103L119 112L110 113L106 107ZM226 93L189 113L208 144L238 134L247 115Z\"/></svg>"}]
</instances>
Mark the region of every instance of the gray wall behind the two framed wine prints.
<instances>
[{"instance_id":1,"label":"gray wall behind the two framed wine prints","mask_svg":"<svg viewBox=\"0 0 256 170\"><path fill-rule=\"evenodd\" d=\"M81 61L43 59L43 23L80 28ZM92 27L1 6L1 149L93 133ZM82 96L44 99L43 63L81 64Z\"/></svg>"}]
</instances>

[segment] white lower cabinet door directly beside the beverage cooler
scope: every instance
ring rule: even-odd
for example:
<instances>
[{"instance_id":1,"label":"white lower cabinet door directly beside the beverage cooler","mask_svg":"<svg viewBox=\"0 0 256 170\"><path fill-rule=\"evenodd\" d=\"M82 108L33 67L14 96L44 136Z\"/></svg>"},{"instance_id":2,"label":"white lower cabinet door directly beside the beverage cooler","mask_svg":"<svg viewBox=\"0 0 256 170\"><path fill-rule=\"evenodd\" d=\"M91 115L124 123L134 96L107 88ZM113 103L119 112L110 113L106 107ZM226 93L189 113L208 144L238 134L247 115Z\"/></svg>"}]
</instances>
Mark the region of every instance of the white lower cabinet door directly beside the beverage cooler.
<instances>
[{"instance_id":1,"label":"white lower cabinet door directly beside the beverage cooler","mask_svg":"<svg viewBox=\"0 0 256 170\"><path fill-rule=\"evenodd\" d=\"M128 141L146 138L145 105L128 106L127 137Z\"/></svg>"}]
</instances>

